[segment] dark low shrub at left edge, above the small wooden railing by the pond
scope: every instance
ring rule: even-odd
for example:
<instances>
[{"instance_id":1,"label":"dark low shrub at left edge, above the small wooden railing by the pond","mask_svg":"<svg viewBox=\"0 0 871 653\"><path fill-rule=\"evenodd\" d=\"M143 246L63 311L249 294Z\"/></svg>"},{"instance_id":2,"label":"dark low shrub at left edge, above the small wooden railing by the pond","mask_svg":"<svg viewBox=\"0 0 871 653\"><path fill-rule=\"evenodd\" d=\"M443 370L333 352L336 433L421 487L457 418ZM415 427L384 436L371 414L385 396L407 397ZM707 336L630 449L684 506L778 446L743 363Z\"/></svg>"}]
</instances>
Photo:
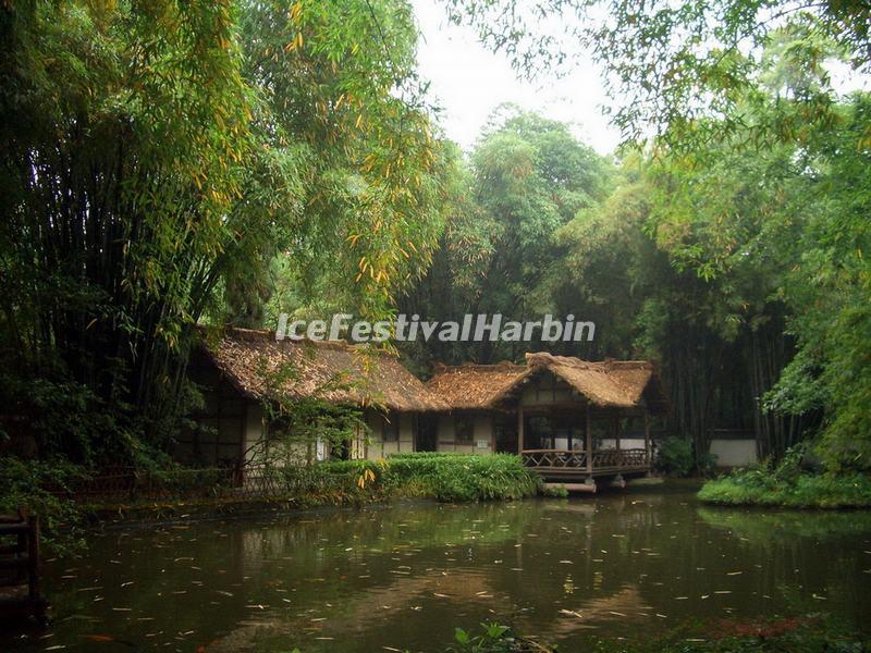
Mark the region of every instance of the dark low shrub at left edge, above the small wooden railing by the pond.
<instances>
[{"instance_id":1,"label":"dark low shrub at left edge, above the small wooden railing by the pond","mask_svg":"<svg viewBox=\"0 0 871 653\"><path fill-rule=\"evenodd\" d=\"M58 554L83 546L84 514L64 496L71 483L85 477L81 467L64 460L24 461L0 457L0 515L20 509L39 517L42 541Z\"/></svg>"}]
</instances>

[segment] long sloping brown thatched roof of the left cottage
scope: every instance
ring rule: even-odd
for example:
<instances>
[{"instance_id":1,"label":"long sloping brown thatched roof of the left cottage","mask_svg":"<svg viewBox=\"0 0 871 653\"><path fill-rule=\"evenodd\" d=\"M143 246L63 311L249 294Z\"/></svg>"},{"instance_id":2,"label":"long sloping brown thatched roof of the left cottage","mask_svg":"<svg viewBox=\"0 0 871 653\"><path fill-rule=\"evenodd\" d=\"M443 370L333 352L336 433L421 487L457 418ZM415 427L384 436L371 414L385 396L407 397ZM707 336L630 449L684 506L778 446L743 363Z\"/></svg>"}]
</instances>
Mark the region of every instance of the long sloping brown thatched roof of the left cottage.
<instances>
[{"instance_id":1,"label":"long sloping brown thatched roof of the left cottage","mask_svg":"<svg viewBox=\"0 0 871 653\"><path fill-rule=\"evenodd\" d=\"M340 342L275 341L273 332L230 329L206 355L246 397L377 404L392 410L443 410L400 361Z\"/></svg>"}]
</instances>

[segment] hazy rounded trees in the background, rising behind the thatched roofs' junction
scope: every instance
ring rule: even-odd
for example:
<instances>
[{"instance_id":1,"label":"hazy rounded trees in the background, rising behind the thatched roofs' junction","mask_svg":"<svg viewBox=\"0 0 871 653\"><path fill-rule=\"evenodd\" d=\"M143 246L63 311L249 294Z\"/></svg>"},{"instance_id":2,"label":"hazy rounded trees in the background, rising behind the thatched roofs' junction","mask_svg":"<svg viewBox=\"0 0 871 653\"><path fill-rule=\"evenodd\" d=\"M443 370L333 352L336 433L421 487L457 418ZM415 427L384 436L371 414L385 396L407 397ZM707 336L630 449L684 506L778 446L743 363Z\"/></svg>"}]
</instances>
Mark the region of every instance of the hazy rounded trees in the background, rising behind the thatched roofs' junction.
<instances>
[{"instance_id":1,"label":"hazy rounded trees in the background, rising behind the thatched roofs' junction","mask_svg":"<svg viewBox=\"0 0 871 653\"><path fill-rule=\"evenodd\" d=\"M432 267L400 308L442 321L466 313L523 321L559 312L564 307L547 289L561 255L552 237L605 196L611 162L578 141L568 125L505 106L494 112L469 163L456 180L454 211ZM525 346L433 342L419 355L426 362L486 362L514 359Z\"/></svg>"}]
</instances>

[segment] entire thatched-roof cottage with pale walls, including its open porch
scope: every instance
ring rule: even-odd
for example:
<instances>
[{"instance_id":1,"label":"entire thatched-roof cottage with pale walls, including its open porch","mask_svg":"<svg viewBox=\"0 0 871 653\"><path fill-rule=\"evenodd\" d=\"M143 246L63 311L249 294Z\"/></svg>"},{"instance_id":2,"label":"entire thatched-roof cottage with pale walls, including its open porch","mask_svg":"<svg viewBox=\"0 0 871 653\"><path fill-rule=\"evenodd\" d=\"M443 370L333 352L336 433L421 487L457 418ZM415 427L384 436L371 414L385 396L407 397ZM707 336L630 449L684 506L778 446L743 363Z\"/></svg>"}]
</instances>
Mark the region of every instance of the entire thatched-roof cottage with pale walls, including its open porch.
<instances>
[{"instance_id":1,"label":"entire thatched-roof cottage with pale walls, including its open porch","mask_svg":"<svg viewBox=\"0 0 871 653\"><path fill-rule=\"evenodd\" d=\"M205 347L192 377L206 390L200 421L177 447L195 465L246 458L273 424L263 406L319 397L359 406L370 434L344 452L377 459L397 452L439 451L523 456L548 479L643 473L650 465L648 420L664 412L653 365L586 362L528 354L526 365L440 367L422 383L387 354L364 355L344 343L277 342L265 331L235 329ZM317 446L308 459L327 455Z\"/></svg>"}]
</instances>

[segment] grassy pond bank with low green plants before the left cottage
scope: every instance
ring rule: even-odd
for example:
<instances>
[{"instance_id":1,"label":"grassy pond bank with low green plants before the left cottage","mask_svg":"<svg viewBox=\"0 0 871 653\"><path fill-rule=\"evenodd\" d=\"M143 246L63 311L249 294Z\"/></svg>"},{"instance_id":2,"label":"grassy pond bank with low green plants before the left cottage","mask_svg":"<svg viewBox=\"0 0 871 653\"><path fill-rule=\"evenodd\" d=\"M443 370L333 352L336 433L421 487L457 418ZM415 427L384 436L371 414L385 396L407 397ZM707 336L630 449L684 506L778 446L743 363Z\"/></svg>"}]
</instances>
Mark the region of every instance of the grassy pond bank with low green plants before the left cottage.
<instances>
[{"instance_id":1,"label":"grassy pond bank with low green plants before the left cottage","mask_svg":"<svg viewBox=\"0 0 871 653\"><path fill-rule=\"evenodd\" d=\"M148 472L145 480L137 472L122 477L123 482L79 476L78 485L71 481L61 493L34 483L12 488L0 505L42 515L49 544L62 547L88 523L286 514L403 498L464 503L565 495L562 488L545 488L517 456L504 454L402 454L378 461L259 467L238 478L220 469Z\"/></svg>"}]
</instances>

